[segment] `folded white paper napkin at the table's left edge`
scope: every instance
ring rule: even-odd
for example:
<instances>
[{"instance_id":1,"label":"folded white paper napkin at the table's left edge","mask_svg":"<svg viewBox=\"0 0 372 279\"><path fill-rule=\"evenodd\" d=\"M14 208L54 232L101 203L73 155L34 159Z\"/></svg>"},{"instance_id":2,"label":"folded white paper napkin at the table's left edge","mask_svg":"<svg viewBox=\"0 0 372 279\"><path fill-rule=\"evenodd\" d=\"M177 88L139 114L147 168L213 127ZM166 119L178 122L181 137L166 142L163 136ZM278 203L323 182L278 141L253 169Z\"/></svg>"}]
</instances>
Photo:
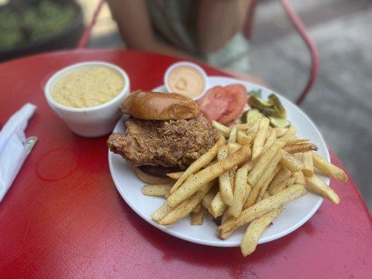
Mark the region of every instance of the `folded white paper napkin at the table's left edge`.
<instances>
[{"instance_id":1,"label":"folded white paper napkin at the table's left edge","mask_svg":"<svg viewBox=\"0 0 372 279\"><path fill-rule=\"evenodd\" d=\"M28 152L24 130L36 106L24 105L0 131L0 202L20 171Z\"/></svg>"}]
</instances>

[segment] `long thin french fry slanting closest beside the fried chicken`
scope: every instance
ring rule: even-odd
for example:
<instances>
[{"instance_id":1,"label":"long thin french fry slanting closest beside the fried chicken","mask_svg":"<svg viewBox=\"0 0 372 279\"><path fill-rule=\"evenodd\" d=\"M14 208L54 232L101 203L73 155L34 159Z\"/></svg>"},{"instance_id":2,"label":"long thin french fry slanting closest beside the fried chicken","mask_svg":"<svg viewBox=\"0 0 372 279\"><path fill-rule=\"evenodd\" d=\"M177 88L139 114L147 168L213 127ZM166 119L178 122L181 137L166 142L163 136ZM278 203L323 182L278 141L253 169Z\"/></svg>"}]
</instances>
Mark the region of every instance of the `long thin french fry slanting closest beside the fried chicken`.
<instances>
[{"instance_id":1,"label":"long thin french fry slanting closest beside the fried chicken","mask_svg":"<svg viewBox=\"0 0 372 279\"><path fill-rule=\"evenodd\" d=\"M170 189L170 193L174 193L174 191L177 190L179 186L184 183L184 181L186 181L187 177L190 174L198 172L198 170L204 167L204 165L210 163L211 160L216 157L218 149L223 146L223 144L225 144L225 138L221 136L218 138L216 144L214 144L214 146L212 146L211 149L207 151L207 153L204 153L202 156L200 156L198 160L195 160L195 162L186 169L184 174L182 174L181 177L176 181L176 183L174 183L174 186L172 187L172 189Z\"/></svg>"}]
</instances>

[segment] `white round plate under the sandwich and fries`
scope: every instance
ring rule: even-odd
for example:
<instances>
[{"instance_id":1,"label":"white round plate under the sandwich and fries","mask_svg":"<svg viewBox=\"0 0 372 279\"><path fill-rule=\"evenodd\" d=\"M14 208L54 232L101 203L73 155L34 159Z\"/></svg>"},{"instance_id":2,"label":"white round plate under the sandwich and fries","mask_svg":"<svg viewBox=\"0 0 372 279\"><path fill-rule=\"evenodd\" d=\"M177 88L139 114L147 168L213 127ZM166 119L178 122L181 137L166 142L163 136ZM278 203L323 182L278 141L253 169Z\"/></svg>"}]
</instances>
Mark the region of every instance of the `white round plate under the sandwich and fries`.
<instances>
[{"instance_id":1,"label":"white round plate under the sandwich and fries","mask_svg":"<svg viewBox=\"0 0 372 279\"><path fill-rule=\"evenodd\" d=\"M262 86L228 77L212 76L208 77L208 82L210 87L239 83L246 86L248 91L253 89L262 89L262 96L264 98L267 98L267 96L272 92ZM165 92L165 86L158 86L154 91ZM297 135L311 139L311 142L318 146L318 153L320 156L329 161L327 146L325 145L318 128L315 127L315 124L296 105L292 104L289 100L280 96L278 93L276 94L288 112L288 119L297 127ZM126 116L123 116L119 120L117 126L114 128L114 132L124 133L125 119ZM123 197L126 203L131 206L138 215L154 227L161 229L167 234L176 236L179 239L207 246L237 247L240 245L246 226L237 229L237 231L235 231L228 239L223 241L218 237L216 232L217 226L211 218L206 218L204 224L200 226L191 226L190 218L184 218L179 220L179 222L168 226L158 225L151 220L151 213L156 211L156 209L163 204L165 199L161 197L148 197L142 195L142 186L144 185L144 182L137 178L133 168L128 165L121 156L109 151L108 160L112 179L114 180L121 197ZM329 183L329 179L326 177L322 177L322 180L325 181L325 183ZM274 220L273 225L269 226L265 230L259 243L273 241L293 232L313 216L313 214L318 210L320 204L322 204L322 200L322 197L308 193L299 199L286 204L283 213Z\"/></svg>"}]
</instances>

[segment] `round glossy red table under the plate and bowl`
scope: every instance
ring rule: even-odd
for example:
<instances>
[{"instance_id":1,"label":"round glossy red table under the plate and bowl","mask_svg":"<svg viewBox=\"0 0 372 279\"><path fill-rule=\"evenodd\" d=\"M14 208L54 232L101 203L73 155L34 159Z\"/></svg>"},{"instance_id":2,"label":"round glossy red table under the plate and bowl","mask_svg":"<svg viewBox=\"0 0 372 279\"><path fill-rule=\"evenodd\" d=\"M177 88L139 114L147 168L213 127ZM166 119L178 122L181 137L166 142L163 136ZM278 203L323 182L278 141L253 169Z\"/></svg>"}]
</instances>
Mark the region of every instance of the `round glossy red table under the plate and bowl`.
<instances>
[{"instance_id":1,"label":"round glossy red table under the plate and bowl","mask_svg":"<svg viewBox=\"0 0 372 279\"><path fill-rule=\"evenodd\" d=\"M142 220L114 186L106 137L74 135L45 101L48 77L85 60L124 68L132 90L158 86L177 61L77 50L0 65L0 124L31 102L38 110L27 135L39 137L0 204L0 278L371 278L371 216L351 178L332 181L341 204L325 200L304 226L246 258L239 248L188 243ZM334 154L332 161L342 167Z\"/></svg>"}]
</instances>

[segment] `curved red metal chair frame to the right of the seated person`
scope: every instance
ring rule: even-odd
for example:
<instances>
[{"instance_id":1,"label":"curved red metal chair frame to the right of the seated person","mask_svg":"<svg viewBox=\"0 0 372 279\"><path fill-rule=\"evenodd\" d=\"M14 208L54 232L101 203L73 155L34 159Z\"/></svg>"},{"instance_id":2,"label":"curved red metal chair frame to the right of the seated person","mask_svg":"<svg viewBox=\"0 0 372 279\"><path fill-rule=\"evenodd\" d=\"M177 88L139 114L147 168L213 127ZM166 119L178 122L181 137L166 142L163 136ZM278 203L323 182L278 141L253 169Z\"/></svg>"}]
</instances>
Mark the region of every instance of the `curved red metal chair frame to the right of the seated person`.
<instances>
[{"instance_id":1,"label":"curved red metal chair frame to the right of the seated person","mask_svg":"<svg viewBox=\"0 0 372 279\"><path fill-rule=\"evenodd\" d=\"M308 32L306 31L304 23L299 18L299 16L295 13L295 10L292 9L288 1L287 0L280 0L280 1L285 10L285 13L287 13L295 29L299 32L299 36L301 36L301 38L306 43L306 46L308 47L308 50L311 55L310 74L308 76L308 80L306 82L304 90L302 91L302 93L299 95L299 97L296 100L297 105L301 105L302 102L304 102L306 96L308 96L308 93L313 87L315 83L315 79L318 76L318 71L319 71L318 49L315 46L315 43L313 42L311 37L308 36ZM252 37L253 20L254 20L255 8L257 7L257 4L258 4L258 0L251 0L251 4L248 8L248 17L247 17L246 25L244 27L244 34L246 35L248 39L251 39Z\"/></svg>"}]
</instances>

